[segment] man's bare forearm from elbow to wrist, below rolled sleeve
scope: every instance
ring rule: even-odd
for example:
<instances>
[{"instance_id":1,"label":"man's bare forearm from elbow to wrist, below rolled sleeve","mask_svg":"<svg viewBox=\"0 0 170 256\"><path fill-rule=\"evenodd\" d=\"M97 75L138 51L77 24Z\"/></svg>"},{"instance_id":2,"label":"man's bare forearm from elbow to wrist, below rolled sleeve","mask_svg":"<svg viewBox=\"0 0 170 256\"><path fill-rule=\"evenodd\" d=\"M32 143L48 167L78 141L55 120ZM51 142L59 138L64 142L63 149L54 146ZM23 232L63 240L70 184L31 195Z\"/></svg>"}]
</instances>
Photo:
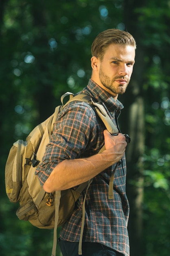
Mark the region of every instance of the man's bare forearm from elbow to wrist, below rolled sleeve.
<instances>
[{"instance_id":1,"label":"man's bare forearm from elbow to wrist, below rolled sleeve","mask_svg":"<svg viewBox=\"0 0 170 256\"><path fill-rule=\"evenodd\" d=\"M88 158L63 160L46 180L44 190L50 193L77 186L98 175L114 162L105 151Z\"/></svg>"}]
</instances>

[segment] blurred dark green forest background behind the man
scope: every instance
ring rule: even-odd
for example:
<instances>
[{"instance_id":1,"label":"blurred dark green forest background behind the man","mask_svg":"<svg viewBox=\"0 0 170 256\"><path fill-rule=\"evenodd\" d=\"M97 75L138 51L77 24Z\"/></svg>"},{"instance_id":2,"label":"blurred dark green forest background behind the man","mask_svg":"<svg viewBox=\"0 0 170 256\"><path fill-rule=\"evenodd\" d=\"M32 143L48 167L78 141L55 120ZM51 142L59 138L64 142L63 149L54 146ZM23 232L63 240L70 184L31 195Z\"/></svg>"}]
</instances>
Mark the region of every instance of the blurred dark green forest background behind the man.
<instances>
[{"instance_id":1,"label":"blurred dark green forest background behind the man","mask_svg":"<svg viewBox=\"0 0 170 256\"><path fill-rule=\"evenodd\" d=\"M53 231L17 219L4 184L9 149L52 114L61 94L91 76L91 44L109 28L136 39L136 62L119 100L131 206L131 256L170 254L170 1L0 1L0 255L47 256ZM61 255L59 248L57 256Z\"/></svg>"}]
</instances>

